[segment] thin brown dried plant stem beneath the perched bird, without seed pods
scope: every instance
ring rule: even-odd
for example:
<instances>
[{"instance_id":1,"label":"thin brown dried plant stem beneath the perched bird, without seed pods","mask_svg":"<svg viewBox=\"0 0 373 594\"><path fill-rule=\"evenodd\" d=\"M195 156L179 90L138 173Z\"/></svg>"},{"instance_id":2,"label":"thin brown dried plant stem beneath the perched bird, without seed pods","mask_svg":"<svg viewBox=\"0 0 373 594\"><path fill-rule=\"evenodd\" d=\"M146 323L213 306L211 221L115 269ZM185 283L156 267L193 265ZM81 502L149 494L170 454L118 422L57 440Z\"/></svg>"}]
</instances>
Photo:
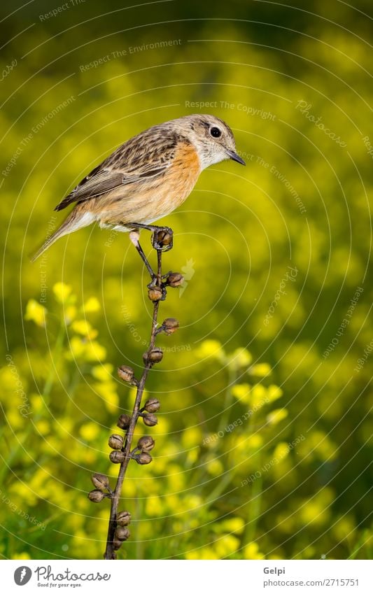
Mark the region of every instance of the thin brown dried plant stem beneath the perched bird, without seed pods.
<instances>
[{"instance_id":1,"label":"thin brown dried plant stem beneath the perched bird, without seed pods","mask_svg":"<svg viewBox=\"0 0 373 594\"><path fill-rule=\"evenodd\" d=\"M156 285L158 287L161 286L162 283L162 250L157 250L157 280ZM155 346L155 338L157 337L157 317L158 317L158 310L160 308L160 302L154 302L153 307L153 318L152 318L152 326L150 332L150 341L148 346L147 353L153 350ZM136 390L136 397L134 400L134 408L132 410L131 421L129 423L129 427L126 433L125 445L122 448L122 451L125 453L125 459L120 464L119 474L117 483L115 486L115 490L113 491L113 496L111 497L111 509L110 509L110 519L108 523L108 536L106 539L106 550L104 553L104 559L115 559L115 551L113 548L113 540L116 528L116 521L115 518L118 513L118 504L120 500L120 493L122 491L122 484L125 479L125 474L127 471L127 467L129 465L129 460L131 460L131 448L132 448L132 439L134 437L134 430L136 427L137 420L139 419L139 411L141 405L141 399L143 397L143 390L145 388L146 379L148 377L148 373L150 368L153 366L153 363L150 362L149 358L147 358L147 362L144 364L143 373L141 375L141 379L137 384Z\"/></svg>"}]
</instances>

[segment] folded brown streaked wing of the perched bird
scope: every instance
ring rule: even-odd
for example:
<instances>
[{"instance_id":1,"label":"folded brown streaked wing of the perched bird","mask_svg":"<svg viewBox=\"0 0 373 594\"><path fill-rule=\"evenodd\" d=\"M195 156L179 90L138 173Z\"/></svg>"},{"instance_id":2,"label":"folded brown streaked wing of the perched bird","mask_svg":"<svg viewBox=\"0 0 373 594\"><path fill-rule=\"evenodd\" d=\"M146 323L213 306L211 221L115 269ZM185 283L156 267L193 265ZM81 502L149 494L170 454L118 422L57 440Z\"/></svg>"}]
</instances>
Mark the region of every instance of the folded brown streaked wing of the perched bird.
<instances>
[{"instance_id":1,"label":"folded brown streaked wing of the perched bird","mask_svg":"<svg viewBox=\"0 0 373 594\"><path fill-rule=\"evenodd\" d=\"M151 134L150 134L151 133ZM177 142L174 132L153 127L122 144L78 183L56 207L61 211L73 202L107 194L115 188L144 178L162 176L172 164Z\"/></svg>"}]
</instances>

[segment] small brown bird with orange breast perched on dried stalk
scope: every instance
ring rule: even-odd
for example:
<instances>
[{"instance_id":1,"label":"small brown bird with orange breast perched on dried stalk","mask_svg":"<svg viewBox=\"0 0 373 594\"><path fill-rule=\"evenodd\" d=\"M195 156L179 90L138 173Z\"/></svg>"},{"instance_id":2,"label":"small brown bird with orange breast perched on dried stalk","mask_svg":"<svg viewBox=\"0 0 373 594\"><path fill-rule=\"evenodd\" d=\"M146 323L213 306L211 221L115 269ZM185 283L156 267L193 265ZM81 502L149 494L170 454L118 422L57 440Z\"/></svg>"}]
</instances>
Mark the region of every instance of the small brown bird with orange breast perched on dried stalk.
<instances>
[{"instance_id":1,"label":"small brown bird with orange breast perched on dried stalk","mask_svg":"<svg viewBox=\"0 0 373 594\"><path fill-rule=\"evenodd\" d=\"M93 222L101 228L137 233L131 236L137 247L139 229L158 228L150 224L185 201L206 167L228 159L245 165L232 130L214 115L184 115L140 132L57 204L55 211L71 204L74 208L31 262L60 237Z\"/></svg>"}]
</instances>

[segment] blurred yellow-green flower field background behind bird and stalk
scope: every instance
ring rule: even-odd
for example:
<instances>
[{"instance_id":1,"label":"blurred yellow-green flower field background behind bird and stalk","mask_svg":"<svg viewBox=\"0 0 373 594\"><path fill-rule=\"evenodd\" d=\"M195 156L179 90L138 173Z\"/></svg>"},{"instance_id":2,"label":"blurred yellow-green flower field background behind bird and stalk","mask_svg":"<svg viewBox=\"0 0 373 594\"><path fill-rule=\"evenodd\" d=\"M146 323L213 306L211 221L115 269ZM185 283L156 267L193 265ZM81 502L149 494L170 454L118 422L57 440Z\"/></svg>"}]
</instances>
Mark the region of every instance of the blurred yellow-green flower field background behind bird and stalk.
<instances>
[{"instance_id":1,"label":"blurred yellow-green flower field background behind bird and stalk","mask_svg":"<svg viewBox=\"0 0 373 594\"><path fill-rule=\"evenodd\" d=\"M150 330L125 234L29 254L116 146L199 112L247 167L204 171L163 221L186 283L160 316L181 329L159 340L154 461L129 467L118 554L372 558L372 7L353 4L2 4L3 558L102 558L90 475L114 483L134 397L115 369L140 373Z\"/></svg>"}]
</instances>

